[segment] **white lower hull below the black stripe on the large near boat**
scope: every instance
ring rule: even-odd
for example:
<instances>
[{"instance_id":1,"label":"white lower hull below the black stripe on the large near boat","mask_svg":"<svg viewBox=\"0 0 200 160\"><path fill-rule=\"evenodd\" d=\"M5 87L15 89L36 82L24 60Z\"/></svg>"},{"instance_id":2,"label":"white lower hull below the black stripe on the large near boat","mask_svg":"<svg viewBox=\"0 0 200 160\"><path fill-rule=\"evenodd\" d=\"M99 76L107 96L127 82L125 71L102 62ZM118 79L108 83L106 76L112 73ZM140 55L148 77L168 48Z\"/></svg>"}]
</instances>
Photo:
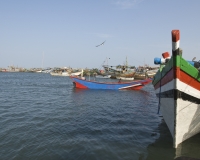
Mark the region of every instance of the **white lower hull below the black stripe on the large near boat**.
<instances>
[{"instance_id":1,"label":"white lower hull below the black stripe on the large near boat","mask_svg":"<svg viewBox=\"0 0 200 160\"><path fill-rule=\"evenodd\" d=\"M174 147L200 132L200 105L173 98L161 98L160 110L174 139ZM175 107L177 103L177 107ZM175 124L174 124L175 122ZM178 126L178 127L176 127Z\"/></svg>"}]
</instances>

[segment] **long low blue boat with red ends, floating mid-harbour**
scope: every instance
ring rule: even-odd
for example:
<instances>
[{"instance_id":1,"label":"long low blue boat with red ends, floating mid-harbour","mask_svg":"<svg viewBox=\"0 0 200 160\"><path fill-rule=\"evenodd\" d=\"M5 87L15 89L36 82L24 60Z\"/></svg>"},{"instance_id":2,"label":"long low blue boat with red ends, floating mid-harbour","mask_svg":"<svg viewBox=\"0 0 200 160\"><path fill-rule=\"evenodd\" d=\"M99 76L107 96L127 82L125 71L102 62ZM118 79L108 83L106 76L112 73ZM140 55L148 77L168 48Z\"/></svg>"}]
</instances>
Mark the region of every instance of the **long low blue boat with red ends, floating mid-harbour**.
<instances>
[{"instance_id":1,"label":"long low blue boat with red ends, floating mid-harbour","mask_svg":"<svg viewBox=\"0 0 200 160\"><path fill-rule=\"evenodd\" d=\"M96 81L87 81L78 77L70 77L74 83L76 88L83 89L112 89L112 90L122 90L122 89L130 89L130 90L139 90L145 85L151 83L151 79L141 80L141 81L133 81L128 83L101 83Z\"/></svg>"}]
</instances>

